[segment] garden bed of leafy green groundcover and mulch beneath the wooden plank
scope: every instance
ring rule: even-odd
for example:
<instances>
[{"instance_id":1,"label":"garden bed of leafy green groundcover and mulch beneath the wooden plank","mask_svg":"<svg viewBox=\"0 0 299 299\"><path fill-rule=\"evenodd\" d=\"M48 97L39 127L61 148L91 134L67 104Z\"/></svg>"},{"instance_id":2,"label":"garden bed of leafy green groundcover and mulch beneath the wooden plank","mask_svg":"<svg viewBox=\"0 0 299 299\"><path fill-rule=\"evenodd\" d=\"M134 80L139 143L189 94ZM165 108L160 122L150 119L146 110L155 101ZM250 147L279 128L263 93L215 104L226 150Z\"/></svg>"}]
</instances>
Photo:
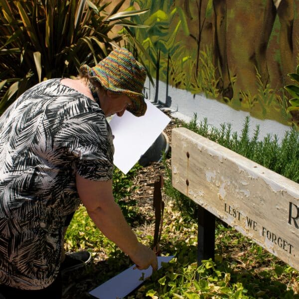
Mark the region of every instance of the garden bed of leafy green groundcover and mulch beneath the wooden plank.
<instances>
[{"instance_id":1,"label":"garden bed of leafy green groundcover and mulch beneath the wooden plank","mask_svg":"<svg viewBox=\"0 0 299 299\"><path fill-rule=\"evenodd\" d=\"M177 121L172 120L164 131L170 145L171 129L176 126ZM125 199L137 203L130 223L138 238L148 246L154 230L153 183L160 174L167 180L165 170L162 162L138 169L134 178L138 189ZM299 298L298 271L218 220L215 263L204 262L197 269L196 221L179 212L175 200L163 191L162 198L165 211L160 250L162 255L176 254L176 258L128 298L199 298L199 294L200 298ZM94 297L88 295L89 291L127 269L131 261L92 226L83 207L76 212L70 228L72 235L67 236L67 249L91 251L93 263L85 271L75 271L64 279L63 298L91 299Z\"/></svg>"}]
</instances>

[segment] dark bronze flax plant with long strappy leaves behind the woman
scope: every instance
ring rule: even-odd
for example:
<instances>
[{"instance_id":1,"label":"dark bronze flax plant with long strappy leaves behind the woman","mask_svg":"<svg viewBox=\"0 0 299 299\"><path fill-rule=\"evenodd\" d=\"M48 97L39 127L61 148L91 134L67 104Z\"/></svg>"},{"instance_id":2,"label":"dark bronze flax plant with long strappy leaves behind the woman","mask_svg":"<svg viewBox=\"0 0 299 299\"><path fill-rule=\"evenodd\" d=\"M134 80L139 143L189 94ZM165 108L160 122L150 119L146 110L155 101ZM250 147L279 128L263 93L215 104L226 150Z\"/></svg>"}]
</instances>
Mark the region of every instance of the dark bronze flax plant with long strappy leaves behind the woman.
<instances>
[{"instance_id":1,"label":"dark bronze flax plant with long strappy leaves behind the woman","mask_svg":"<svg viewBox=\"0 0 299 299\"><path fill-rule=\"evenodd\" d=\"M136 26L128 18L147 11L120 12L124 1L107 13L102 0L0 0L0 114L36 83L106 57L124 37L115 25Z\"/></svg>"}]
</instances>

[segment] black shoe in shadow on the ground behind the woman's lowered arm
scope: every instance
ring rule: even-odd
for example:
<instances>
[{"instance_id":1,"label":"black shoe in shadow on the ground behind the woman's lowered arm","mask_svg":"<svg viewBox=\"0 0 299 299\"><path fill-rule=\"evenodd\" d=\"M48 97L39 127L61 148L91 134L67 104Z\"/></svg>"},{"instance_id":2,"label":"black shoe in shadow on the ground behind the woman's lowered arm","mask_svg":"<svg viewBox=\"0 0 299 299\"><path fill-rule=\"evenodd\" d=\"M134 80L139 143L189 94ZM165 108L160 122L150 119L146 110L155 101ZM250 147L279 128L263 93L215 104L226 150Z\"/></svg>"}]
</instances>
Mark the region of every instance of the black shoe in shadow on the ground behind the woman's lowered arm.
<instances>
[{"instance_id":1,"label":"black shoe in shadow on the ground behind the woman's lowered arm","mask_svg":"<svg viewBox=\"0 0 299 299\"><path fill-rule=\"evenodd\" d=\"M91 262L91 254L88 251L67 253L60 266L61 275L82 268L89 262Z\"/></svg>"}]
</instances>

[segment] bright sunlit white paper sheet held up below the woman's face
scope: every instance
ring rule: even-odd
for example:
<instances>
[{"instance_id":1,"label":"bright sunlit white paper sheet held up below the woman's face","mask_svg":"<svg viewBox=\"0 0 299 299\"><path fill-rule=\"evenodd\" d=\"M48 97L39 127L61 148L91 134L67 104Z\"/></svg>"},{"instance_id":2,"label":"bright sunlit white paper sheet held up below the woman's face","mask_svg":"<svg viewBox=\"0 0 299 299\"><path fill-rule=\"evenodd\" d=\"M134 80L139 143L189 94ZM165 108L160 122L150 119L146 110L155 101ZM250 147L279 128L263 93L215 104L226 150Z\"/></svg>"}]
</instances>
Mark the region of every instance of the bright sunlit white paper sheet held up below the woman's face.
<instances>
[{"instance_id":1,"label":"bright sunlit white paper sheet held up below the woman's face","mask_svg":"<svg viewBox=\"0 0 299 299\"><path fill-rule=\"evenodd\" d=\"M136 117L126 111L122 117L115 115L109 125L114 135L114 164L125 174L149 149L170 122L170 118L146 100L144 116Z\"/></svg>"}]
</instances>

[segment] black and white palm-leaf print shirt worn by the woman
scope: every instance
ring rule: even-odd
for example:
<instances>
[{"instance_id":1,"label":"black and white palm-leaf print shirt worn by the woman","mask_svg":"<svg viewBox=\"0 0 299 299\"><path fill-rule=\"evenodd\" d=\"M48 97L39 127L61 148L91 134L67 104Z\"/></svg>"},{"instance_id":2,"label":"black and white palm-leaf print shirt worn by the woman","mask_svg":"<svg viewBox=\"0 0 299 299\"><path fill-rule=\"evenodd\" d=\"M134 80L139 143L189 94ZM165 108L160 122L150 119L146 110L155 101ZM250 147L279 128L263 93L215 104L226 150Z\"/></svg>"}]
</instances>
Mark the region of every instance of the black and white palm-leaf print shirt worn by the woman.
<instances>
[{"instance_id":1,"label":"black and white palm-leaf print shirt worn by the woman","mask_svg":"<svg viewBox=\"0 0 299 299\"><path fill-rule=\"evenodd\" d=\"M59 271L64 221L80 204L75 173L109 180L113 138L99 105L60 79L0 117L0 284L38 290Z\"/></svg>"}]
</instances>

